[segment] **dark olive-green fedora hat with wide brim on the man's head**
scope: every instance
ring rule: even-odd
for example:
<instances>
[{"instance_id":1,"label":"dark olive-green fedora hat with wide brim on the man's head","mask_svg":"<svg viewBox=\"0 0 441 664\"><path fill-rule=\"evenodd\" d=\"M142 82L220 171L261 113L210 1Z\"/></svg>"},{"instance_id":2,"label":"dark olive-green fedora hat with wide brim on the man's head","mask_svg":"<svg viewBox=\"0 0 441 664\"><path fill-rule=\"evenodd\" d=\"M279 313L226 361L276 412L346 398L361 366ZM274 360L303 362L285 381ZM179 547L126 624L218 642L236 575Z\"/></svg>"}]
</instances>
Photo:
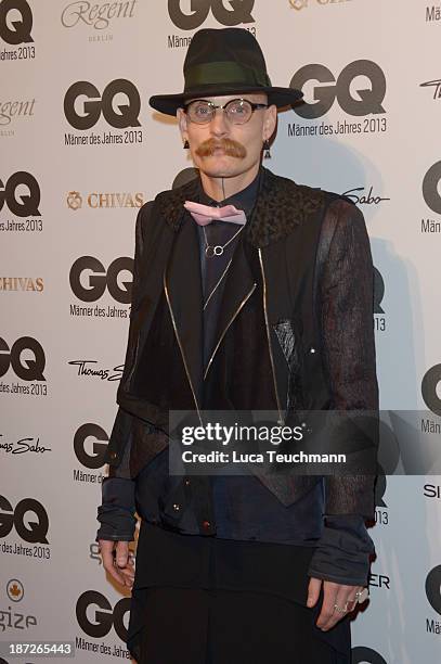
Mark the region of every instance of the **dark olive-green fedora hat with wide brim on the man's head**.
<instances>
[{"instance_id":1,"label":"dark olive-green fedora hat with wide brim on the man's head","mask_svg":"<svg viewBox=\"0 0 441 664\"><path fill-rule=\"evenodd\" d=\"M189 99L264 92L277 108L299 101L303 93L271 85L262 50L245 28L203 28L195 33L184 61L184 91L154 94L156 111L176 115Z\"/></svg>"}]
</instances>

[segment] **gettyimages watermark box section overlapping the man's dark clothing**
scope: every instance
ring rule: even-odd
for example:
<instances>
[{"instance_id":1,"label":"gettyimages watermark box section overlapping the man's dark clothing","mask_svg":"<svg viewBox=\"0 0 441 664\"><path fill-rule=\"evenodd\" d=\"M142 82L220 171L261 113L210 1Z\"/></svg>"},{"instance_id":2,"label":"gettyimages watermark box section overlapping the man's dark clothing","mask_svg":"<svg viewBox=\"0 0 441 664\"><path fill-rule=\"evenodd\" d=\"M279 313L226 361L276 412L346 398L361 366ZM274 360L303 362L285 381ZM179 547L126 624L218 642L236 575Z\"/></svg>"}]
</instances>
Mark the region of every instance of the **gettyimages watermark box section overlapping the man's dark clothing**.
<instances>
[{"instance_id":1,"label":"gettyimages watermark box section overlapping the man's dark clothing","mask_svg":"<svg viewBox=\"0 0 441 664\"><path fill-rule=\"evenodd\" d=\"M169 472L376 474L377 431L365 411L170 411Z\"/></svg>"}]
</instances>

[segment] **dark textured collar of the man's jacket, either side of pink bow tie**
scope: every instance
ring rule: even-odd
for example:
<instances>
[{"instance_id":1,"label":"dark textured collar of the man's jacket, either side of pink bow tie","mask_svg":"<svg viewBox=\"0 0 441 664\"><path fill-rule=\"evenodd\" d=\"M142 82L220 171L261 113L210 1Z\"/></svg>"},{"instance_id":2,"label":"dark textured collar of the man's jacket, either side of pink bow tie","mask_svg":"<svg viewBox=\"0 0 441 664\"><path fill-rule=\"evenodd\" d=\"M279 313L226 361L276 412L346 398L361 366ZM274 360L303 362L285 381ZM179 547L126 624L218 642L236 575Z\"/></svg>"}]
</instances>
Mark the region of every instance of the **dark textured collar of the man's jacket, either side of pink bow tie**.
<instances>
[{"instance_id":1,"label":"dark textured collar of the man's jacket, either side of pink bow tie","mask_svg":"<svg viewBox=\"0 0 441 664\"><path fill-rule=\"evenodd\" d=\"M174 231L183 222L183 204L187 200L199 201L199 192L200 178L197 177L156 196L163 218ZM244 239L255 247L268 246L293 232L309 215L315 214L323 202L320 189L297 184L261 166L256 205L244 229Z\"/></svg>"}]
</instances>

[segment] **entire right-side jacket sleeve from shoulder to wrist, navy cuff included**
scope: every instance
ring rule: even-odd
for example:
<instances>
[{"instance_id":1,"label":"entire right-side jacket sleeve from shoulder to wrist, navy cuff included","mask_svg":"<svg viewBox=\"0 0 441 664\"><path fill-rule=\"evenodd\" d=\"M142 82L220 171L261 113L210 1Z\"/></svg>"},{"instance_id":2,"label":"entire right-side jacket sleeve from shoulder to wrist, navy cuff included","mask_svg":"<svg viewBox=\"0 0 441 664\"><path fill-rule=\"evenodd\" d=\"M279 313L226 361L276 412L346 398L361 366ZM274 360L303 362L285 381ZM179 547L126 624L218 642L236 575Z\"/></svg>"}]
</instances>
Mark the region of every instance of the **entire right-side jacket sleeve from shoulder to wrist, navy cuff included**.
<instances>
[{"instance_id":1,"label":"entire right-side jacket sleeve from shoulder to wrist, navy cuff included","mask_svg":"<svg viewBox=\"0 0 441 664\"><path fill-rule=\"evenodd\" d=\"M339 199L321 281L324 362L336 410L368 410L378 423L374 334L374 267L361 210ZM375 552L365 519L375 514L374 475L325 477L325 523L309 574L347 585L366 585Z\"/></svg>"}]
</instances>

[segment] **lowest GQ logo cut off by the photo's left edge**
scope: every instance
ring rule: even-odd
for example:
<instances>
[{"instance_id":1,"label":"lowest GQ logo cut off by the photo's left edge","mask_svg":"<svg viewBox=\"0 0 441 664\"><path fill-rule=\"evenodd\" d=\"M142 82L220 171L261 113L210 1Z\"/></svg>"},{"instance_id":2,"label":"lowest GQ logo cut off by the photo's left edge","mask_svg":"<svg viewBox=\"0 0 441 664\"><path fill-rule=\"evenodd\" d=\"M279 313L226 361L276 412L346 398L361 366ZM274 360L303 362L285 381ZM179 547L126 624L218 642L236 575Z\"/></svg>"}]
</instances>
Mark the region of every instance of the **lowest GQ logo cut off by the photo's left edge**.
<instances>
[{"instance_id":1,"label":"lowest GQ logo cut off by the photo's left edge","mask_svg":"<svg viewBox=\"0 0 441 664\"><path fill-rule=\"evenodd\" d=\"M28 512L34 512L37 521L25 522ZM24 498L17 502L14 510L10 501L4 496L0 496L0 537L8 537L13 526L25 541L48 544L46 537L49 529L48 512L38 500Z\"/></svg>"}]
</instances>

